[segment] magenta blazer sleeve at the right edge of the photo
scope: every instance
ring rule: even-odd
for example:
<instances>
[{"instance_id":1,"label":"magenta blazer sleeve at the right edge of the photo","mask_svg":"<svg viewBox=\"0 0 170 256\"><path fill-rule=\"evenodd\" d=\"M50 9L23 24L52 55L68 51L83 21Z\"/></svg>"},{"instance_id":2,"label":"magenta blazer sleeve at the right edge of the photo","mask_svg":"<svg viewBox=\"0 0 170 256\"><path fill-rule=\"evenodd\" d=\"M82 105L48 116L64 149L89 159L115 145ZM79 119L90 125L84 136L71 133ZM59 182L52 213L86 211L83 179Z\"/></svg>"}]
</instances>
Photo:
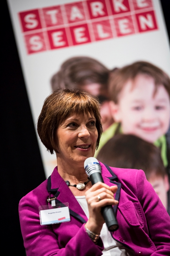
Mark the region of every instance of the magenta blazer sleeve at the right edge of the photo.
<instances>
[{"instance_id":1,"label":"magenta blazer sleeve at the right edge of the photo","mask_svg":"<svg viewBox=\"0 0 170 256\"><path fill-rule=\"evenodd\" d=\"M136 181L138 198L147 220L149 235L157 248L152 256L169 255L170 217L142 170L138 171Z\"/></svg>"}]
</instances>

